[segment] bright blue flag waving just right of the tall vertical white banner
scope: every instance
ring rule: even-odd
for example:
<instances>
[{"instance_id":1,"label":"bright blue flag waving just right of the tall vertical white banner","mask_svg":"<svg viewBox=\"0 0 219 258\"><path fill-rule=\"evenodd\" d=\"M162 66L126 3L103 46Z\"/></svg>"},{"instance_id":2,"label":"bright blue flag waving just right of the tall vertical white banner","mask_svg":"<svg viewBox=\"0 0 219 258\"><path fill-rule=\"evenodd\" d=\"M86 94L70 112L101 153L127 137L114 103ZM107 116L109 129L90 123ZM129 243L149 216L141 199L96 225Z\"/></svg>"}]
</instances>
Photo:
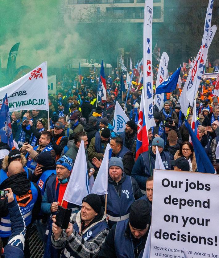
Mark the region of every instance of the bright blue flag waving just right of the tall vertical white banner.
<instances>
[{"instance_id":1,"label":"bright blue flag waving just right of the tall vertical white banner","mask_svg":"<svg viewBox=\"0 0 219 258\"><path fill-rule=\"evenodd\" d=\"M180 70L181 70L181 66L179 69L176 70L176 72L170 75L169 78L167 78L163 83L161 83L156 88L156 94L174 91L176 89L176 85L180 76Z\"/></svg>"}]
</instances>

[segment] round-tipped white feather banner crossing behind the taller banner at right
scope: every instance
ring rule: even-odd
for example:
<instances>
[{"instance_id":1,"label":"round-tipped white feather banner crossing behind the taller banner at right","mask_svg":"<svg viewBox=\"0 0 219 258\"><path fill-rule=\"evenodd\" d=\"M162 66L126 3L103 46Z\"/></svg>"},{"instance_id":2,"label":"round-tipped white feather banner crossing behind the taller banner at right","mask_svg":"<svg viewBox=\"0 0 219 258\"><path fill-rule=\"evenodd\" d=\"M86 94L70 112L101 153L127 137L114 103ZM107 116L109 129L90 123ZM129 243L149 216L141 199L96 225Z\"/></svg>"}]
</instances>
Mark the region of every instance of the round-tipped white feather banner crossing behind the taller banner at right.
<instances>
[{"instance_id":1,"label":"round-tipped white feather banner crossing behind the taller banner at right","mask_svg":"<svg viewBox=\"0 0 219 258\"><path fill-rule=\"evenodd\" d=\"M217 26L215 26L215 25L213 25L210 29L208 49L211 45L211 42L213 40L213 37L215 35L216 30L217 30ZM195 59L193 65L192 65L192 69L189 71L188 78L187 78L187 80L184 84L183 90L182 90L182 92L180 94L180 97L178 99L178 102L177 102L177 103L180 103L181 111L184 114L187 114L187 109L188 109L188 106L189 106L189 103L190 103L188 91L191 93L190 95L192 97L194 96L194 92L196 94L196 92L198 91L198 88L197 88L197 90L195 89L195 86L197 86L197 85L193 85L193 83L192 83L192 78L195 79L194 77L195 77L195 72L197 70L197 60L198 60L199 56L200 56L200 50L199 50L199 52L196 56L196 59ZM206 61L206 60L204 60L204 61ZM193 90L193 92L191 92L191 90ZM193 100L192 100L192 103L193 103Z\"/></svg>"}]
</instances>

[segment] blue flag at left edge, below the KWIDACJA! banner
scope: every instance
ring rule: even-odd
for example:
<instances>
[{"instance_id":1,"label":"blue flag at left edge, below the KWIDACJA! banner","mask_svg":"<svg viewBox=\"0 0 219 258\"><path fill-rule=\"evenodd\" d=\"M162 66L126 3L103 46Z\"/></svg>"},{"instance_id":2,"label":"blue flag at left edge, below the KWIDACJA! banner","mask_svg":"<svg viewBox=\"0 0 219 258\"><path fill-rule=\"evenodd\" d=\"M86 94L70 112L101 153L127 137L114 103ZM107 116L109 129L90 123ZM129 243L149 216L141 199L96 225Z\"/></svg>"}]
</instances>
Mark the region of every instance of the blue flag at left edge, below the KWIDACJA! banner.
<instances>
[{"instance_id":1,"label":"blue flag at left edge, below the KWIDACJA! banner","mask_svg":"<svg viewBox=\"0 0 219 258\"><path fill-rule=\"evenodd\" d=\"M7 93L3 99L2 107L0 110L0 136L1 142L7 143L10 148L14 146Z\"/></svg>"}]
</instances>

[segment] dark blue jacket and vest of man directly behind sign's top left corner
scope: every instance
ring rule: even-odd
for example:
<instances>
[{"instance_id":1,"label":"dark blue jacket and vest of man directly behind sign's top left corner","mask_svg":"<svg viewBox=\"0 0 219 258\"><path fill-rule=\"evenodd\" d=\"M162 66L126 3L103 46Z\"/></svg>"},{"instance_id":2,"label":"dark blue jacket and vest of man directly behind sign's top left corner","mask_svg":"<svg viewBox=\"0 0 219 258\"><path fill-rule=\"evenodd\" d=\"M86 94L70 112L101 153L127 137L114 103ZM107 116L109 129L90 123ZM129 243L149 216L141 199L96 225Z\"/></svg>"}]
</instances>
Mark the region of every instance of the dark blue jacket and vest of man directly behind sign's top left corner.
<instances>
[{"instance_id":1,"label":"dark blue jacket and vest of man directly behind sign's top left corner","mask_svg":"<svg viewBox=\"0 0 219 258\"><path fill-rule=\"evenodd\" d=\"M151 159L151 171L150 171L150 162L149 162L149 153L148 151L141 153L138 156L138 159L134 163L134 167L131 172L131 176L136 179L138 185L141 189L146 190L146 180L148 177L153 175L153 169L155 168L155 159L156 155L152 152L151 147L150 151L150 159ZM165 169L171 169L170 160L171 155L167 151L162 151L160 153L161 159L163 161L163 165Z\"/></svg>"}]
</instances>

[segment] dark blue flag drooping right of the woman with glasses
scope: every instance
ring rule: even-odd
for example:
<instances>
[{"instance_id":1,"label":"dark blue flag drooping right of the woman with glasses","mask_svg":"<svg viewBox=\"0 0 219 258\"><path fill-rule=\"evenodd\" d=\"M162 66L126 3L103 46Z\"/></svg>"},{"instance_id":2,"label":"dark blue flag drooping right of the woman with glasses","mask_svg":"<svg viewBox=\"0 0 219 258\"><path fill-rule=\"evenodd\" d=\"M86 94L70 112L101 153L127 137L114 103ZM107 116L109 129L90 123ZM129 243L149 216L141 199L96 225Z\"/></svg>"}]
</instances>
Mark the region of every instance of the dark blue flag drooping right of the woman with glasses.
<instances>
[{"instance_id":1,"label":"dark blue flag drooping right of the woman with glasses","mask_svg":"<svg viewBox=\"0 0 219 258\"><path fill-rule=\"evenodd\" d=\"M199 139L197 138L195 133L192 131L192 128L186 119L185 119L185 125L191 136L192 145L193 145L195 155L196 155L196 163L197 163L197 167L198 167L198 172L214 174L215 170L214 170L214 167L213 167L208 155L206 154Z\"/></svg>"}]
</instances>

